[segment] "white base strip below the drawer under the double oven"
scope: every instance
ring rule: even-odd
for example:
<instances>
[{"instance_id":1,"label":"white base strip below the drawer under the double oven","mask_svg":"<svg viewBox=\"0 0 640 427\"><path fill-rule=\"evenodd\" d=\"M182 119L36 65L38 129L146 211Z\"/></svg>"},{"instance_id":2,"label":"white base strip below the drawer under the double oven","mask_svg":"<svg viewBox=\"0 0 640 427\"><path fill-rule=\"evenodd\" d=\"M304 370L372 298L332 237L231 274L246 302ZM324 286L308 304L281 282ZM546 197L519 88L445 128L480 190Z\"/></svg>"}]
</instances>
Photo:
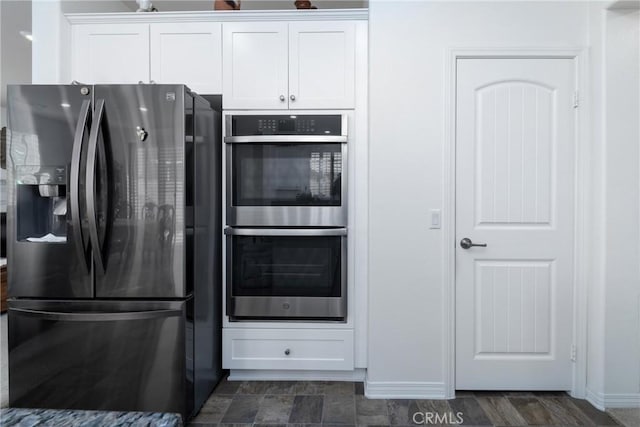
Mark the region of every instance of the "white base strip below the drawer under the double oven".
<instances>
[{"instance_id":1,"label":"white base strip below the drawer under the double oven","mask_svg":"<svg viewBox=\"0 0 640 427\"><path fill-rule=\"evenodd\" d=\"M229 381L364 381L365 369L353 371L296 371L231 369Z\"/></svg>"}]
</instances>

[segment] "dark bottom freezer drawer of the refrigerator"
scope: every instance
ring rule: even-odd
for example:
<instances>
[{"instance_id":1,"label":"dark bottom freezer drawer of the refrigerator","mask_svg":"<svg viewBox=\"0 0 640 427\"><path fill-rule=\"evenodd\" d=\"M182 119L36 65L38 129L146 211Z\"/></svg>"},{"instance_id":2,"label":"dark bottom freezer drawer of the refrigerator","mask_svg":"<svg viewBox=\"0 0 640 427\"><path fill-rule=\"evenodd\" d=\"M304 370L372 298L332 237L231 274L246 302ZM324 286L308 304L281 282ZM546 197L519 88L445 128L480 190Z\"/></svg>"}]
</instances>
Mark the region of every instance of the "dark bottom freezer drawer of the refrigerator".
<instances>
[{"instance_id":1,"label":"dark bottom freezer drawer of the refrigerator","mask_svg":"<svg viewBox=\"0 0 640 427\"><path fill-rule=\"evenodd\" d=\"M191 313L191 300L11 301L10 406L189 415Z\"/></svg>"}]
</instances>

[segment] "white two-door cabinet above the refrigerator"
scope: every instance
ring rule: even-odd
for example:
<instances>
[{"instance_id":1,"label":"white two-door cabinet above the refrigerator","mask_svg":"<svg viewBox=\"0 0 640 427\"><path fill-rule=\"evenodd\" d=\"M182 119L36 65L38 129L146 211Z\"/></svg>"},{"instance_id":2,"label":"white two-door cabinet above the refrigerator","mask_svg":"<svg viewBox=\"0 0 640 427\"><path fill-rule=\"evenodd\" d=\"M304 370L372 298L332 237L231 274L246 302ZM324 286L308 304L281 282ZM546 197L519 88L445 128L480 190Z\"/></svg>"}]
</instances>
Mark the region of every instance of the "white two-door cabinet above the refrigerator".
<instances>
[{"instance_id":1,"label":"white two-door cabinet above the refrigerator","mask_svg":"<svg viewBox=\"0 0 640 427\"><path fill-rule=\"evenodd\" d=\"M73 26L73 80L82 83L181 83L222 92L222 24Z\"/></svg>"}]
</instances>

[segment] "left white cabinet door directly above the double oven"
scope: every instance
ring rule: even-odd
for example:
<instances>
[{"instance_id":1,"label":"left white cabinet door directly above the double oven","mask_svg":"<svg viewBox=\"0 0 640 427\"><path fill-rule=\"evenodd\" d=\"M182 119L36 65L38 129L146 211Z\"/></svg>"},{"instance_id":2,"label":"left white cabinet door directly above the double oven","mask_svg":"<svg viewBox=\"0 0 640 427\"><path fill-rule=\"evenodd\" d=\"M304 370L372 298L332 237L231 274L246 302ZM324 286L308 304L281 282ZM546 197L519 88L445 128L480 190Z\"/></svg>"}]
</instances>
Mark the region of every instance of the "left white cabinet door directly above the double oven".
<instances>
[{"instance_id":1,"label":"left white cabinet door directly above the double oven","mask_svg":"<svg viewBox=\"0 0 640 427\"><path fill-rule=\"evenodd\" d=\"M224 23L222 34L224 107L288 108L287 24Z\"/></svg>"}]
</instances>

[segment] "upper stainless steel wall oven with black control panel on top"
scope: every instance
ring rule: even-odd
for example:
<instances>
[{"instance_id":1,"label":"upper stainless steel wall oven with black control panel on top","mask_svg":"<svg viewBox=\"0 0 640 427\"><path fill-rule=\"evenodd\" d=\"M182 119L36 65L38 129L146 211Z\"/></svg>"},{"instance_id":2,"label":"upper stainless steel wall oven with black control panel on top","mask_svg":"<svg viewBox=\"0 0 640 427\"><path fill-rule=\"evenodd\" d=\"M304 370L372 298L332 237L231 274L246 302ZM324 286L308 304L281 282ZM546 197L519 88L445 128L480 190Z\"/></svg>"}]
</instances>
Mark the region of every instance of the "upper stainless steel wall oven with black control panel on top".
<instances>
[{"instance_id":1,"label":"upper stainless steel wall oven with black control panel on top","mask_svg":"<svg viewBox=\"0 0 640 427\"><path fill-rule=\"evenodd\" d=\"M226 117L227 224L347 225L347 116Z\"/></svg>"}]
</instances>

